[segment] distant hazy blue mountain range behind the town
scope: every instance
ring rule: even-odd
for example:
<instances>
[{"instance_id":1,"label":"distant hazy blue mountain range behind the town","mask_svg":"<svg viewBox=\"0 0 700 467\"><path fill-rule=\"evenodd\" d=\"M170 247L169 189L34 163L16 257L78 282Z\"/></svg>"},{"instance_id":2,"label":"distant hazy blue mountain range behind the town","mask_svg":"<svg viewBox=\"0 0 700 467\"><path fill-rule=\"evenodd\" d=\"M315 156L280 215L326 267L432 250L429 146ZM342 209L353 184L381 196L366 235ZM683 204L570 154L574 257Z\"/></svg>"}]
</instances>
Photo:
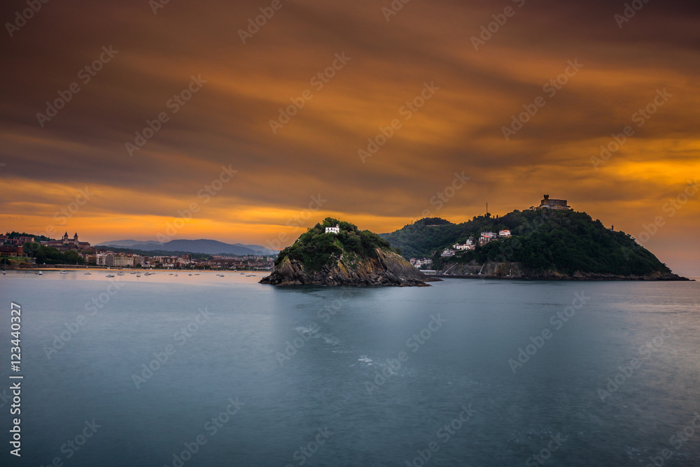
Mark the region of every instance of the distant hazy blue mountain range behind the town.
<instances>
[{"instance_id":1,"label":"distant hazy blue mountain range behind the town","mask_svg":"<svg viewBox=\"0 0 700 467\"><path fill-rule=\"evenodd\" d=\"M170 240L167 243L160 243L155 240L111 240L102 242L96 246L132 248L141 251L166 251L166 252L191 252L203 254L236 254L244 256L246 254L276 254L275 250L262 247L260 245L242 245L241 243L223 243L217 240Z\"/></svg>"}]
</instances>

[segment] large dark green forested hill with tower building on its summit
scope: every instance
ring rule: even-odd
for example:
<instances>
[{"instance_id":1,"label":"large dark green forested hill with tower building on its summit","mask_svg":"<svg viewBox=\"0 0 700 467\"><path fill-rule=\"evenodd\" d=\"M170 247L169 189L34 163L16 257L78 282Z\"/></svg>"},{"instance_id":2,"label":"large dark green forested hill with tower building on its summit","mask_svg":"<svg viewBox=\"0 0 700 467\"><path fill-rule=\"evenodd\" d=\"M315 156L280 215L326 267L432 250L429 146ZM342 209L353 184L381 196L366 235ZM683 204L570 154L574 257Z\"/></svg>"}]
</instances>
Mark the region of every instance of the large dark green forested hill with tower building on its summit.
<instances>
[{"instance_id":1,"label":"large dark green forested hill with tower building on its summit","mask_svg":"<svg viewBox=\"0 0 700 467\"><path fill-rule=\"evenodd\" d=\"M440 252L482 231L509 229L511 238L477 245L468 252L442 259ZM516 262L529 271L610 275L670 274L671 270L624 232L606 229L587 213L573 210L515 210L503 217L474 217L452 224L424 219L391 234L381 234L405 258L433 257L433 266L475 261Z\"/></svg>"}]
</instances>

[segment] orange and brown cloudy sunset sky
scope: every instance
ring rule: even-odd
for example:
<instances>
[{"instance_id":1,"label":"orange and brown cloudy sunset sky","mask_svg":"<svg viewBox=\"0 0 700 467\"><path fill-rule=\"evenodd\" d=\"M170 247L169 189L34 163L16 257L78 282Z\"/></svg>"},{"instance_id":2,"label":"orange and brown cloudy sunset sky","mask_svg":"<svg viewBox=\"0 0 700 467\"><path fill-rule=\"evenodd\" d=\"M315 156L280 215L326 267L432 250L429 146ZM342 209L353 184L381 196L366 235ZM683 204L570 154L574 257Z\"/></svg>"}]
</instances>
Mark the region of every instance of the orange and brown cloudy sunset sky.
<instances>
[{"instance_id":1,"label":"orange and brown cloudy sunset sky","mask_svg":"<svg viewBox=\"0 0 700 467\"><path fill-rule=\"evenodd\" d=\"M700 275L696 1L404 1L3 2L0 230L281 248L549 194Z\"/></svg>"}]
</instances>

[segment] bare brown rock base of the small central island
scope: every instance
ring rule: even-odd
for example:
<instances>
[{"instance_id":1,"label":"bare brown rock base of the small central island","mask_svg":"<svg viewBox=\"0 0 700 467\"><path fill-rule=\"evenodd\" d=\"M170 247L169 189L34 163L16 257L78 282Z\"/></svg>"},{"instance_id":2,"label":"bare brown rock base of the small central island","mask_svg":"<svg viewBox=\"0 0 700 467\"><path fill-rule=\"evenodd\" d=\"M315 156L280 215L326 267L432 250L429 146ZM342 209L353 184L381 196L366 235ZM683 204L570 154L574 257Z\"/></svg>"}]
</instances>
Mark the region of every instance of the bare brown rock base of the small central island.
<instances>
[{"instance_id":1,"label":"bare brown rock base of the small central island","mask_svg":"<svg viewBox=\"0 0 700 467\"><path fill-rule=\"evenodd\" d=\"M358 258L342 254L318 271L307 271L299 261L284 258L272 274L260 280L271 285L393 285L426 287L435 280L418 271L395 252L377 248L376 257Z\"/></svg>"}]
</instances>

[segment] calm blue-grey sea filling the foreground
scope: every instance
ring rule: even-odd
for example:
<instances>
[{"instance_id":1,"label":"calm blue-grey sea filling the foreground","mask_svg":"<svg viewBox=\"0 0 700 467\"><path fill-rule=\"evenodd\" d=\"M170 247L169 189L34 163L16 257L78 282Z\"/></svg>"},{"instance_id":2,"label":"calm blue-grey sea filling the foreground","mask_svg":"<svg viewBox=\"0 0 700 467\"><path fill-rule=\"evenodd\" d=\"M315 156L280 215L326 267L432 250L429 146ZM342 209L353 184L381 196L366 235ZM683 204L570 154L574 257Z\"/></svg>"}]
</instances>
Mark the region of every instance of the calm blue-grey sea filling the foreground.
<instances>
[{"instance_id":1,"label":"calm blue-grey sea filling the foreground","mask_svg":"<svg viewBox=\"0 0 700 467\"><path fill-rule=\"evenodd\" d=\"M700 282L261 277L1 276L0 464L700 466Z\"/></svg>"}]
</instances>

